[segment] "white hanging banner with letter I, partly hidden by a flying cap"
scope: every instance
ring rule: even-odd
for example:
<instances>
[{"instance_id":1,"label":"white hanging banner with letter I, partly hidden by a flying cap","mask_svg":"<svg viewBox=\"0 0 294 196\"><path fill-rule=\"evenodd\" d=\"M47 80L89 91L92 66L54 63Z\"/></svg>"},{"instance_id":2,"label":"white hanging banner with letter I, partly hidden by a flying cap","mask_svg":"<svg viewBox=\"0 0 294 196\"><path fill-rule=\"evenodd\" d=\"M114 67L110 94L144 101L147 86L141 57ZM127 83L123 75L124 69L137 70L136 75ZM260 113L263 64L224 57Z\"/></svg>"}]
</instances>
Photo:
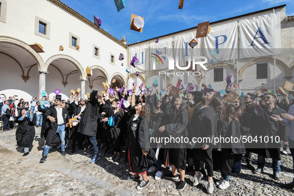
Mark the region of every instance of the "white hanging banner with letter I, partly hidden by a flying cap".
<instances>
[{"instance_id":1,"label":"white hanging banner with letter I, partly hidden by a flying cap","mask_svg":"<svg viewBox=\"0 0 294 196\"><path fill-rule=\"evenodd\" d=\"M190 32L182 35L175 36L175 56L174 59L176 60L176 57L179 58L179 66L180 67L186 67L187 63L192 61L193 56L200 56L200 38L196 37L196 31ZM189 43L195 39L197 42L197 45L192 48L190 47Z\"/></svg>"}]
</instances>

